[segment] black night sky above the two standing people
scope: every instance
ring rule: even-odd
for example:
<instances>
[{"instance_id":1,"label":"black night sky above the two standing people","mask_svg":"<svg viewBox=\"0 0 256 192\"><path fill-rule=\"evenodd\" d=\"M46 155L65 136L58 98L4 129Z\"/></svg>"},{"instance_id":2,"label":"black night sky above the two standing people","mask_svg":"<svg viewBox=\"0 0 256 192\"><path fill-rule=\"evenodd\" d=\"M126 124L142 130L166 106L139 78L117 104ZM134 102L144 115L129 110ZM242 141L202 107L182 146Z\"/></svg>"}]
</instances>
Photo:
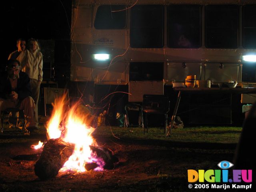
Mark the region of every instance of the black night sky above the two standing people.
<instances>
[{"instance_id":1,"label":"black night sky above the two standing people","mask_svg":"<svg viewBox=\"0 0 256 192\"><path fill-rule=\"evenodd\" d=\"M1 2L1 68L18 38L54 40L54 65L66 73L70 62L72 0L10 0ZM62 74L58 74L62 76Z\"/></svg>"}]
</instances>

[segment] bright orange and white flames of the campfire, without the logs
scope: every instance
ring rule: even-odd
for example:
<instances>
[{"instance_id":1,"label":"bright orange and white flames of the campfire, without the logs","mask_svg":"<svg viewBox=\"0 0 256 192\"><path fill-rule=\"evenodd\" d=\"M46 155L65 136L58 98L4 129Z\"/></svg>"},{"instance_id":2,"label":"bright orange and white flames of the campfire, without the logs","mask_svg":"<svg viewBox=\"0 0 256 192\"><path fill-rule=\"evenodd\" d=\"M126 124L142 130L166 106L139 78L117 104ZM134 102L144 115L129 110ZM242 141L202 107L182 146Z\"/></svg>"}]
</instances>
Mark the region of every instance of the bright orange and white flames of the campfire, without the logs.
<instances>
[{"instance_id":1,"label":"bright orange and white flames of the campfire, without the logs","mask_svg":"<svg viewBox=\"0 0 256 192\"><path fill-rule=\"evenodd\" d=\"M97 160L90 149L90 145L97 146L97 144L91 136L94 128L86 124L86 115L88 114L76 113L78 104L68 110L67 114L64 114L66 110L64 101L65 97L55 101L52 117L47 124L48 140L62 138L65 142L75 144L74 153L60 171L72 169L84 172L86 171L84 166L88 162L96 162L100 166L96 170L101 170L104 162Z\"/></svg>"}]
</instances>

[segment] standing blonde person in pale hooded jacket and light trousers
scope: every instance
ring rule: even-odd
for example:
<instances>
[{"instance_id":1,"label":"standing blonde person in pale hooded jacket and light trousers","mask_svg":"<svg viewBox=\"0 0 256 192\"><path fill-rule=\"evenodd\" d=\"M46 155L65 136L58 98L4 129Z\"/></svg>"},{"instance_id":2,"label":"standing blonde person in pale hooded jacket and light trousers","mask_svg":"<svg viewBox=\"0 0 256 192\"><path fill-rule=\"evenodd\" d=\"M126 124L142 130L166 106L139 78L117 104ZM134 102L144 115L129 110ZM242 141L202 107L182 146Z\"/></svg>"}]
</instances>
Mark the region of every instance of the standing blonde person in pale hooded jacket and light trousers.
<instances>
[{"instance_id":1,"label":"standing blonde person in pale hooded jacket and light trousers","mask_svg":"<svg viewBox=\"0 0 256 192\"><path fill-rule=\"evenodd\" d=\"M35 122L38 126L38 98L40 92L40 84L43 80L43 55L39 51L40 48L35 39L31 38L27 43L28 50L22 52L17 60L20 60L21 70L28 74L30 78L32 98L36 104Z\"/></svg>"}]
</instances>

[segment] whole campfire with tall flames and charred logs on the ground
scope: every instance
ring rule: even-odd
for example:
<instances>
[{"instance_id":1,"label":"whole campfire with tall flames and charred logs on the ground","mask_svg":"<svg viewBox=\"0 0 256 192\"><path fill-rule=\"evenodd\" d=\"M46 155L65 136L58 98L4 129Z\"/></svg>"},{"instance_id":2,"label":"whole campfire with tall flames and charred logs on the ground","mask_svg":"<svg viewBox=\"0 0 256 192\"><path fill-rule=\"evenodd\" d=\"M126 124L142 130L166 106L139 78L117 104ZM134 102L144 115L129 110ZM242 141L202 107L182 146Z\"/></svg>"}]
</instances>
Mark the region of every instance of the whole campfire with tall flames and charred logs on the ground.
<instances>
[{"instance_id":1,"label":"whole campfire with tall flames and charred logs on the ground","mask_svg":"<svg viewBox=\"0 0 256 192\"><path fill-rule=\"evenodd\" d=\"M118 162L112 151L98 146L92 137L88 122L90 114L79 112L79 104L68 109L65 97L57 98L47 123L47 142L39 142L34 149L43 147L42 154L35 164L35 174L41 179L54 177L58 172L74 170L112 169Z\"/></svg>"}]
</instances>

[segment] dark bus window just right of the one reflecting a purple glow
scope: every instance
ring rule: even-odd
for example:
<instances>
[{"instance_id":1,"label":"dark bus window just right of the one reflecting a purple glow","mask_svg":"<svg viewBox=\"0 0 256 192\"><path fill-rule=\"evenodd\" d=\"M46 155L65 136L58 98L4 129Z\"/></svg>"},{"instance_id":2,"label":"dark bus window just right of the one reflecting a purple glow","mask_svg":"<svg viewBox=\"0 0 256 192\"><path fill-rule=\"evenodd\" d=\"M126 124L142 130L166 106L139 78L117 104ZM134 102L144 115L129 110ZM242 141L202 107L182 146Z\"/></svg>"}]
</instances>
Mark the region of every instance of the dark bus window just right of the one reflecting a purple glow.
<instances>
[{"instance_id":1,"label":"dark bus window just right of the one reflecting a purple glow","mask_svg":"<svg viewBox=\"0 0 256 192\"><path fill-rule=\"evenodd\" d=\"M207 5L205 7L206 48L237 48L239 7Z\"/></svg>"}]
</instances>

